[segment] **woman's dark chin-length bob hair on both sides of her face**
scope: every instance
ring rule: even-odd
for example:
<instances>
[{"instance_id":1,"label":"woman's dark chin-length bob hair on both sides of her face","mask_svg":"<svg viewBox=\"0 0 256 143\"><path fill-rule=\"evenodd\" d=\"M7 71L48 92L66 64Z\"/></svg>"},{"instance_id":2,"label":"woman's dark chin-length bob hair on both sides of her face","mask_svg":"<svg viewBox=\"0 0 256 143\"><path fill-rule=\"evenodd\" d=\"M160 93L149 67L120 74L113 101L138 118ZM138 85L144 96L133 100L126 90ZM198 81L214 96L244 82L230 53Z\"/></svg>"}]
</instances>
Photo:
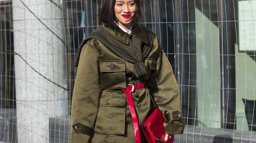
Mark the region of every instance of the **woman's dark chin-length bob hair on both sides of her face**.
<instances>
[{"instance_id":1,"label":"woman's dark chin-length bob hair on both sides of her face","mask_svg":"<svg viewBox=\"0 0 256 143\"><path fill-rule=\"evenodd\" d=\"M144 19L145 13L144 13L144 1L143 0L134 0L135 2L135 13L133 18L131 19L132 25L137 25L141 23L141 21ZM113 26L117 26L115 24L115 13L114 13L114 6L116 4L116 0L104 0L102 4L102 8L100 10L100 13L98 15L99 19L103 23L109 23Z\"/></svg>"}]
</instances>

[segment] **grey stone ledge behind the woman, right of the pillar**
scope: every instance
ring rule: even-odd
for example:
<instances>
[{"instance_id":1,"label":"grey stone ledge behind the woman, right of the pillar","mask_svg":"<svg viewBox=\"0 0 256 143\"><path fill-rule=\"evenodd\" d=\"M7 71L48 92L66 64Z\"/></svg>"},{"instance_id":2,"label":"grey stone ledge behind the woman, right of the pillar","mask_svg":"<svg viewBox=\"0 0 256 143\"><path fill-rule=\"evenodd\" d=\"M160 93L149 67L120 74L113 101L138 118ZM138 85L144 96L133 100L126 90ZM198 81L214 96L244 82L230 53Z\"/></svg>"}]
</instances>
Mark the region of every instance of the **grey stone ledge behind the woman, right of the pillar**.
<instances>
[{"instance_id":1,"label":"grey stone ledge behind the woman, right of the pillar","mask_svg":"<svg viewBox=\"0 0 256 143\"><path fill-rule=\"evenodd\" d=\"M50 142L70 139L70 115L50 118ZM243 135L242 135L243 133ZM233 137L234 136L234 137ZM256 132L185 125L184 133L175 135L174 143L256 143Z\"/></svg>"}]
</instances>

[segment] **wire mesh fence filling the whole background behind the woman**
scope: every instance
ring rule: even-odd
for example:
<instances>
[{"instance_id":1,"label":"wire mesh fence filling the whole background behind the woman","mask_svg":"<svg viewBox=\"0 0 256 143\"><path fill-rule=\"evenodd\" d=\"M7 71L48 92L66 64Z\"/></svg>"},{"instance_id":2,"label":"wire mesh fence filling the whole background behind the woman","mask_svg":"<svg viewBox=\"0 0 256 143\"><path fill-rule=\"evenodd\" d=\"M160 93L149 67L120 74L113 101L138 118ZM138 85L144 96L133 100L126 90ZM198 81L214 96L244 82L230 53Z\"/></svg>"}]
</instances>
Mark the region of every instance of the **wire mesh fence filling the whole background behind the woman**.
<instances>
[{"instance_id":1,"label":"wire mesh fence filling the whole background behind the woman","mask_svg":"<svg viewBox=\"0 0 256 143\"><path fill-rule=\"evenodd\" d=\"M179 85L175 142L256 142L256 0L144 0ZM79 44L102 0L0 1L0 141L69 142Z\"/></svg>"}]
</instances>

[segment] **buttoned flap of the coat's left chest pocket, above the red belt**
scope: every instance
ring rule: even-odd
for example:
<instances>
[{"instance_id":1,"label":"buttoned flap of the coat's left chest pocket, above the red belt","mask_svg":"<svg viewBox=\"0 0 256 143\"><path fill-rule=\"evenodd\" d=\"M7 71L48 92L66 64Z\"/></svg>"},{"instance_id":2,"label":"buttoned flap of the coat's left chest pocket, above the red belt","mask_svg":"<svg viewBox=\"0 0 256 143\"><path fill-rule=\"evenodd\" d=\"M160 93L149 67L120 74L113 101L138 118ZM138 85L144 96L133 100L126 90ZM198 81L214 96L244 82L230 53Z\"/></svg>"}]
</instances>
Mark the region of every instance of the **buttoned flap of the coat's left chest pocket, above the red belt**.
<instances>
[{"instance_id":1,"label":"buttoned flap of the coat's left chest pocket, above the red belt","mask_svg":"<svg viewBox=\"0 0 256 143\"><path fill-rule=\"evenodd\" d=\"M100 61L101 72L119 72L125 71L124 60L104 60Z\"/></svg>"}]
</instances>

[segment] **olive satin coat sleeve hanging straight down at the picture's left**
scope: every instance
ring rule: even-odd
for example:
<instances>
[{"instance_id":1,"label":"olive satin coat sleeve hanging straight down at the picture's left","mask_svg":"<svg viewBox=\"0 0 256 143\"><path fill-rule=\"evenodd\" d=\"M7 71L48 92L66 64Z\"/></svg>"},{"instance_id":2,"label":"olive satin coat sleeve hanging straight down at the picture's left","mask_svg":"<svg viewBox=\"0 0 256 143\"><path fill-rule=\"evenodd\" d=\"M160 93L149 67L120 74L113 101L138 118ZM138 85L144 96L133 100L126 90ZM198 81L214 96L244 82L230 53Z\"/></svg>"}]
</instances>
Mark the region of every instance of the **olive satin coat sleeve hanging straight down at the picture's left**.
<instances>
[{"instance_id":1,"label":"olive satin coat sleeve hanging straight down at the picture's left","mask_svg":"<svg viewBox=\"0 0 256 143\"><path fill-rule=\"evenodd\" d=\"M70 142L90 142L101 95L100 53L93 40L82 47L72 98Z\"/></svg>"}]
</instances>

